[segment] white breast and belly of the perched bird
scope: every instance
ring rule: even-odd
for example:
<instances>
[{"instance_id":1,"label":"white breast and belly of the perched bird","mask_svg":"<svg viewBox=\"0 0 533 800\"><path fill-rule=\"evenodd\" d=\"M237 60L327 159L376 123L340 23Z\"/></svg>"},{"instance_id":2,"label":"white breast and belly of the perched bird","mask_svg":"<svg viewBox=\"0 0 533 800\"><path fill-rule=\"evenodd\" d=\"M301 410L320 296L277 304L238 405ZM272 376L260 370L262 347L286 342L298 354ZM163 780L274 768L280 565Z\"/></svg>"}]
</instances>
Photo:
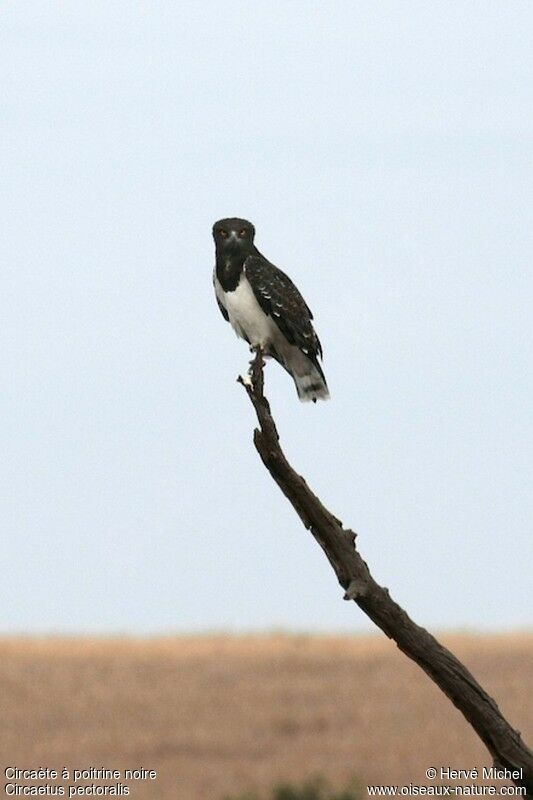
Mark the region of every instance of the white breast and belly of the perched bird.
<instances>
[{"instance_id":1,"label":"white breast and belly of the perched bird","mask_svg":"<svg viewBox=\"0 0 533 800\"><path fill-rule=\"evenodd\" d=\"M251 345L260 345L268 349L268 344L277 338L279 330L255 299L246 274L243 272L233 292L225 292L218 280L215 280L215 290L218 299L228 312L229 321L237 336L247 339Z\"/></svg>"}]
</instances>

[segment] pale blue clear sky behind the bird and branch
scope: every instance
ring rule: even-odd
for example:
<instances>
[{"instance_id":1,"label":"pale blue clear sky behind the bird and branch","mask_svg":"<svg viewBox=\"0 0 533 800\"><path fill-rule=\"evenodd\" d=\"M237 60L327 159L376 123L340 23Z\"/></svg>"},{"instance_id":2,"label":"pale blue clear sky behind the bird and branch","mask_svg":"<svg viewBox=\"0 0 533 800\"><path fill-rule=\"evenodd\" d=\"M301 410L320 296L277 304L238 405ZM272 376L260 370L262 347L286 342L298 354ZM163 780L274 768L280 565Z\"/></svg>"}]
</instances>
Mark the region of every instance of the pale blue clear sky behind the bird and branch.
<instances>
[{"instance_id":1,"label":"pale blue clear sky behind the bird and branch","mask_svg":"<svg viewBox=\"0 0 533 800\"><path fill-rule=\"evenodd\" d=\"M227 215L315 312L331 401L267 390L376 579L531 625L531 3L0 13L1 629L372 629L253 449Z\"/></svg>"}]
</instances>

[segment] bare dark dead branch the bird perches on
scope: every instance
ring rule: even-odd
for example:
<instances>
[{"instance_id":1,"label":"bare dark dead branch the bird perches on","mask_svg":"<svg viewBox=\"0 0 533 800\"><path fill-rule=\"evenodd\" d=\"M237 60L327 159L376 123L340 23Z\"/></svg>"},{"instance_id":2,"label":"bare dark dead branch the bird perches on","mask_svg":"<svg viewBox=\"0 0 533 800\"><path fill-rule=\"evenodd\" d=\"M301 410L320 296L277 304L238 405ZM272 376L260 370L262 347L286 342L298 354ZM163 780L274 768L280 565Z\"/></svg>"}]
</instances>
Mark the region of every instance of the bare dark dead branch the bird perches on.
<instances>
[{"instance_id":1,"label":"bare dark dead branch the bird perches on","mask_svg":"<svg viewBox=\"0 0 533 800\"><path fill-rule=\"evenodd\" d=\"M333 567L345 600L359 608L406 656L415 661L461 711L488 748L494 766L509 770L517 786L533 797L533 753L501 714L495 701L466 667L425 628L417 625L380 586L355 546L356 534L343 527L291 467L279 443L276 424L263 391L264 362L257 352L248 377L239 378L255 409L259 429L254 444L265 467L311 531Z\"/></svg>"}]
</instances>

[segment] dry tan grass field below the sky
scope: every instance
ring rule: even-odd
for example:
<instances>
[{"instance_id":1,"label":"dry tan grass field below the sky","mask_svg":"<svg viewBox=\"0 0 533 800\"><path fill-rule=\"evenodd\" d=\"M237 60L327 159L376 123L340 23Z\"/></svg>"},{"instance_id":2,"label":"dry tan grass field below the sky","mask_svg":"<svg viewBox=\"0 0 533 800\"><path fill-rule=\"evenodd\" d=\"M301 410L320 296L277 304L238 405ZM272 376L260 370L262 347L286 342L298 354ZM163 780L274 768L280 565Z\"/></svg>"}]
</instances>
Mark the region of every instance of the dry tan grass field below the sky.
<instances>
[{"instance_id":1,"label":"dry tan grass field below the sky","mask_svg":"<svg viewBox=\"0 0 533 800\"><path fill-rule=\"evenodd\" d=\"M531 743L533 635L443 639ZM427 784L430 766L490 766L384 637L4 639L0 704L2 770L157 770L128 784L139 799L220 800L313 773Z\"/></svg>"}]
</instances>

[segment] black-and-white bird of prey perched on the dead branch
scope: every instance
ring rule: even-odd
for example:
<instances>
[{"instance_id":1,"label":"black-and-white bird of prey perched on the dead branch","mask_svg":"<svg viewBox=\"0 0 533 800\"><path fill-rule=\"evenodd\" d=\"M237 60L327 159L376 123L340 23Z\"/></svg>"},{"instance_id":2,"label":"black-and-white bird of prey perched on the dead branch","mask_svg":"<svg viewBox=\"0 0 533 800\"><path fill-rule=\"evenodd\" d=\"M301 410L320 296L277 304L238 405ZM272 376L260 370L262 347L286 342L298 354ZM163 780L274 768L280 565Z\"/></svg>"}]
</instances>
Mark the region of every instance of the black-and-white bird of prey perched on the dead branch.
<instances>
[{"instance_id":1,"label":"black-and-white bird of prey perched on the dead branch","mask_svg":"<svg viewBox=\"0 0 533 800\"><path fill-rule=\"evenodd\" d=\"M325 400L329 392L313 315L291 279L261 255L254 236L245 219L213 225L213 283L222 316L252 349L260 347L287 370L300 400Z\"/></svg>"}]
</instances>

